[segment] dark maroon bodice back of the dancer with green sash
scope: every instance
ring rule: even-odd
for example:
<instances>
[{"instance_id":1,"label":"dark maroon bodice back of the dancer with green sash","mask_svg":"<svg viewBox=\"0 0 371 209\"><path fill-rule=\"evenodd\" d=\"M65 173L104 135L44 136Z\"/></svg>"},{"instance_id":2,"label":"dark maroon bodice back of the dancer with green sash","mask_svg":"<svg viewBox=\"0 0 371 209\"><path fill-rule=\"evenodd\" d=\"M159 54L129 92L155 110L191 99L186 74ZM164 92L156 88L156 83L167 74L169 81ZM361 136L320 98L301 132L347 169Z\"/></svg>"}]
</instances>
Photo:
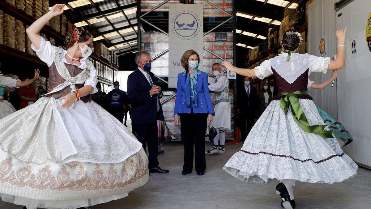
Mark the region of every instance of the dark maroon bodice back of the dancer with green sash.
<instances>
[{"instance_id":1,"label":"dark maroon bodice back of the dancer with green sash","mask_svg":"<svg viewBox=\"0 0 371 209\"><path fill-rule=\"evenodd\" d=\"M289 84L284 78L282 78L273 67L272 72L276 79L276 84L278 86L278 92L295 92L295 91L306 91L308 90L308 73L309 69L307 69L303 74L301 74L296 80ZM310 99L313 98L309 96L308 94L298 94L297 95L299 99ZM273 97L273 100L280 100L281 95Z\"/></svg>"}]
</instances>

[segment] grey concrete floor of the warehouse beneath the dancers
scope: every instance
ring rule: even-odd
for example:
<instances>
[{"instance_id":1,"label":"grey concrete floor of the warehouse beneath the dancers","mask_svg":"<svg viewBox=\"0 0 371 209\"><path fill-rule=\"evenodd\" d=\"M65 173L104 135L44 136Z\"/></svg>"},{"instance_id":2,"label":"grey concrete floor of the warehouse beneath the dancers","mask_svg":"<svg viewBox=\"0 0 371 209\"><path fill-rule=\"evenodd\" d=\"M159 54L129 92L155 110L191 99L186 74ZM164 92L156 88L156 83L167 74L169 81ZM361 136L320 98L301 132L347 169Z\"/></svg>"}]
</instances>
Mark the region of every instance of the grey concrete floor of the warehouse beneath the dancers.
<instances>
[{"instance_id":1,"label":"grey concrete floor of the warehouse beneath the dancers","mask_svg":"<svg viewBox=\"0 0 371 209\"><path fill-rule=\"evenodd\" d=\"M210 143L206 145L209 149ZM152 174L143 187L129 193L128 197L93 209L256 209L280 207L275 193L275 183L247 184L230 176L222 168L239 149L239 145L226 145L226 154L206 156L204 176L196 172L182 176L183 145L164 145L165 154L159 155L160 167L168 174ZM296 208L371 208L371 171L359 168L357 176L342 183L296 183L294 187ZM22 206L0 201L0 209L22 209Z\"/></svg>"}]
</instances>

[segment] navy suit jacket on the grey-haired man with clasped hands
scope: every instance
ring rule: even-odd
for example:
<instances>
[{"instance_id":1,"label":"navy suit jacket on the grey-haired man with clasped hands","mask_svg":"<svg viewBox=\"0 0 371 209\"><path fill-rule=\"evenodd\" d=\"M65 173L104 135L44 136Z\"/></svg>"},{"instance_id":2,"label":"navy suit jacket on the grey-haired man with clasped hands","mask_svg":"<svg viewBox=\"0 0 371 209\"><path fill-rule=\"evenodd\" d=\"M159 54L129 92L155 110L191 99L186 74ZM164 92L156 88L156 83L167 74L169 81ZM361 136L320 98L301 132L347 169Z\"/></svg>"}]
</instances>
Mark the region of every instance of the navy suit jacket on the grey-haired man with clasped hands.
<instances>
[{"instance_id":1,"label":"navy suit jacket on the grey-haired man with clasped hands","mask_svg":"<svg viewBox=\"0 0 371 209\"><path fill-rule=\"evenodd\" d=\"M157 84L153 73L149 72L154 85ZM137 68L128 77L128 97L132 109L132 122L135 124L153 123L157 120L158 94L150 94L151 85L145 75ZM162 96L162 93L160 94ZM160 110L162 112L161 104Z\"/></svg>"}]
</instances>

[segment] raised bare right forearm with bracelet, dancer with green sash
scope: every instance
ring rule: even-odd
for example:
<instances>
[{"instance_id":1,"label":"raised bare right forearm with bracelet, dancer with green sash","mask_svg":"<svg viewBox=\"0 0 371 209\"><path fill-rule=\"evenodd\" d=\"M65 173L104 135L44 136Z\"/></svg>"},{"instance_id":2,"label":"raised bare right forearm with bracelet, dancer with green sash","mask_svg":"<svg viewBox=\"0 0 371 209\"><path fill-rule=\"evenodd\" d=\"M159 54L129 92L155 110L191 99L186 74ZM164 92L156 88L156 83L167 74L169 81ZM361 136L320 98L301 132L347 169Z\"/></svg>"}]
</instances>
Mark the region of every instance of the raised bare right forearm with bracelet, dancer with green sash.
<instances>
[{"instance_id":1,"label":"raised bare right forearm with bracelet, dancer with green sash","mask_svg":"<svg viewBox=\"0 0 371 209\"><path fill-rule=\"evenodd\" d=\"M336 30L336 38L338 39L338 54L336 60L331 60L328 70L339 70L345 65L345 37L347 28L344 30Z\"/></svg>"}]
</instances>

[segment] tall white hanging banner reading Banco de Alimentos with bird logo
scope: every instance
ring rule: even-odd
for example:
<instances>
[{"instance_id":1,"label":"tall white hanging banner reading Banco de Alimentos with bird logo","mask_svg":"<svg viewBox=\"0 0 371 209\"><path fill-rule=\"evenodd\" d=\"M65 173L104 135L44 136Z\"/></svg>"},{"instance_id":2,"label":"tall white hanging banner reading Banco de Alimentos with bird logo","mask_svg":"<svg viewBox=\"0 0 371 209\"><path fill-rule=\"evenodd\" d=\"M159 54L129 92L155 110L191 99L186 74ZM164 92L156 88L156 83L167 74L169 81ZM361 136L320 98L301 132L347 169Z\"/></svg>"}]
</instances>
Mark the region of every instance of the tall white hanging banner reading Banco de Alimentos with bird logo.
<instances>
[{"instance_id":1,"label":"tall white hanging banner reading Banco de Alimentos with bird logo","mask_svg":"<svg viewBox=\"0 0 371 209\"><path fill-rule=\"evenodd\" d=\"M169 88L177 87L177 75L184 71L180 59L193 49L203 66L203 4L169 5Z\"/></svg>"}]
</instances>

